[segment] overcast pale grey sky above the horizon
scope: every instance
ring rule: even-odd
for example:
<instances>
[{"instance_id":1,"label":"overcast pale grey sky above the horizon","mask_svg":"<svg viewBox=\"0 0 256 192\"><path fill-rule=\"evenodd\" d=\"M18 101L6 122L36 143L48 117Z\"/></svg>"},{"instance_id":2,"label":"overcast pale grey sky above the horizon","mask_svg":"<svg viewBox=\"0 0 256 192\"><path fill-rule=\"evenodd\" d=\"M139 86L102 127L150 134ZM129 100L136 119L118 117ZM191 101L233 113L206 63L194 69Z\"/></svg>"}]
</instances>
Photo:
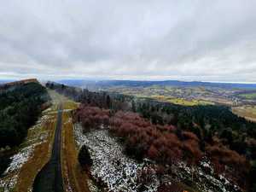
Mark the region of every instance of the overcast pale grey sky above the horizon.
<instances>
[{"instance_id":1,"label":"overcast pale grey sky above the horizon","mask_svg":"<svg viewBox=\"0 0 256 192\"><path fill-rule=\"evenodd\" d=\"M9 0L0 79L256 82L255 0Z\"/></svg>"}]
</instances>

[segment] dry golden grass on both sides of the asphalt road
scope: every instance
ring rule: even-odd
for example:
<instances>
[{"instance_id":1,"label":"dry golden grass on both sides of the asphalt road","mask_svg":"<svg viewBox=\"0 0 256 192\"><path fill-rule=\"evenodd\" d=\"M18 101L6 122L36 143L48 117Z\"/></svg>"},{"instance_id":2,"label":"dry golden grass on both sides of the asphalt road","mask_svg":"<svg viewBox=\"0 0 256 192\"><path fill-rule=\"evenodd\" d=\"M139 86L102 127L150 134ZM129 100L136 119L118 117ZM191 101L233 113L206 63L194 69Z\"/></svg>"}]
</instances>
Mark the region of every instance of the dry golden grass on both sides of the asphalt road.
<instances>
[{"instance_id":1,"label":"dry golden grass on both sides of the asphalt road","mask_svg":"<svg viewBox=\"0 0 256 192\"><path fill-rule=\"evenodd\" d=\"M42 132L48 132L48 137L45 138L44 143L38 144L32 153L32 156L26 163L20 168L18 173L17 183L15 185L15 192L25 192L32 189L34 178L38 172L49 161L52 145L54 142L55 125L57 118L57 106L60 102L63 104L63 116L62 116L62 150L61 150L61 165L64 188L66 191L70 186L75 192L89 192L87 186L87 173L79 166L77 159L78 150L76 148L73 137L73 122L72 111L78 108L79 103L73 102L65 96L57 94L53 90L48 90L49 95L52 98L53 105L50 110L45 111L43 114L49 116L49 119L44 119L42 124L38 124L36 129L30 129L28 131L26 141L20 145L20 148L30 146L35 138L38 138ZM69 110L67 110L69 109ZM18 150L18 149L17 149Z\"/></svg>"}]
</instances>

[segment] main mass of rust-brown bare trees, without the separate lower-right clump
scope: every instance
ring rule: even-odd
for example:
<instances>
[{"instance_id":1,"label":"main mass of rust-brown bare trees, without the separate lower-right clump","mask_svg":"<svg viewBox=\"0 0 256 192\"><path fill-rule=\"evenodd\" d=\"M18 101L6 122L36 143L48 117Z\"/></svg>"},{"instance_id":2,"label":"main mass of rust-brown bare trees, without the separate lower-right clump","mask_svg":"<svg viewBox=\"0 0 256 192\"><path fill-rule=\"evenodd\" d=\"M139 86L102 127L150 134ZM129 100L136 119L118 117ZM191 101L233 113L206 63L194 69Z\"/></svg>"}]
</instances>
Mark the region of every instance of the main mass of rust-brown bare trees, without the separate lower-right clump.
<instances>
[{"instance_id":1,"label":"main mass of rust-brown bare trees, without the separate lower-right clump","mask_svg":"<svg viewBox=\"0 0 256 192\"><path fill-rule=\"evenodd\" d=\"M136 159L145 157L163 164L176 163L178 160L201 159L199 139L194 133L183 131L183 139L177 137L173 125L153 125L138 113L114 113L106 109L81 105L75 119L80 121L84 130L99 125L110 125L110 131L116 137L125 139L127 154ZM192 161L191 161L192 162Z\"/></svg>"}]
</instances>

